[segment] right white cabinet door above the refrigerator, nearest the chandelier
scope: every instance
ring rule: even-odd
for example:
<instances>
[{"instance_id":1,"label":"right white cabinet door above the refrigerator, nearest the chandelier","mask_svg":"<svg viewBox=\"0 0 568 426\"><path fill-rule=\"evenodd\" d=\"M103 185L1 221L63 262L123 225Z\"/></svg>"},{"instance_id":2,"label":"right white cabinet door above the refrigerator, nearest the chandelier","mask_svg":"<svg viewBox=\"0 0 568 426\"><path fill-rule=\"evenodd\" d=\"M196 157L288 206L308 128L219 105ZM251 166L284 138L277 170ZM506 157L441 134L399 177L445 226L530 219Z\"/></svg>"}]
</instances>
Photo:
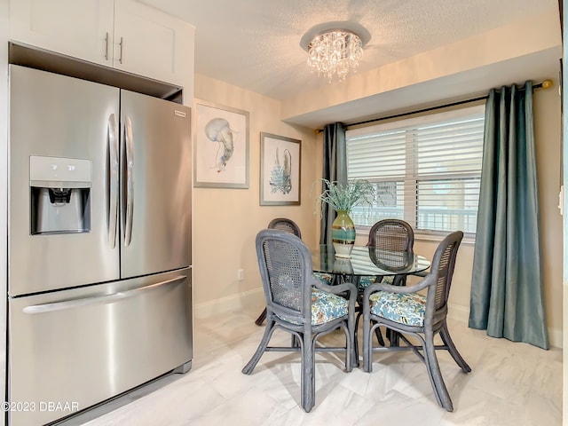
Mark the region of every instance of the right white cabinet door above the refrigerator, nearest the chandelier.
<instances>
[{"instance_id":1,"label":"right white cabinet door above the refrigerator, nearest the chandelier","mask_svg":"<svg viewBox=\"0 0 568 426\"><path fill-rule=\"evenodd\" d=\"M114 67L184 86L193 73L193 27L136 1L115 0Z\"/></svg>"}]
</instances>

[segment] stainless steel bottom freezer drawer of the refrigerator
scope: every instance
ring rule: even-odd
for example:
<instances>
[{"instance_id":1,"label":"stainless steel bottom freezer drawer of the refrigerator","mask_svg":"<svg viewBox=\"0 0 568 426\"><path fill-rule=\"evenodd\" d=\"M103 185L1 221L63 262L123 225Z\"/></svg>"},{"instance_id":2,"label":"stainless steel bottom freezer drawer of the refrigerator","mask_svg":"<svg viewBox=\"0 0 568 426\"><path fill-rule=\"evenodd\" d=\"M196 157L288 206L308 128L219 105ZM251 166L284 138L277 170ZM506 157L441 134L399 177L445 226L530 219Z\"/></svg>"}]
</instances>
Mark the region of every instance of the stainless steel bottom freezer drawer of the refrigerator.
<instances>
[{"instance_id":1,"label":"stainless steel bottom freezer drawer of the refrigerator","mask_svg":"<svg viewBox=\"0 0 568 426\"><path fill-rule=\"evenodd\" d=\"M28 404L10 424L75 414L191 360L190 277L188 268L9 299L8 400Z\"/></svg>"}]
</instances>

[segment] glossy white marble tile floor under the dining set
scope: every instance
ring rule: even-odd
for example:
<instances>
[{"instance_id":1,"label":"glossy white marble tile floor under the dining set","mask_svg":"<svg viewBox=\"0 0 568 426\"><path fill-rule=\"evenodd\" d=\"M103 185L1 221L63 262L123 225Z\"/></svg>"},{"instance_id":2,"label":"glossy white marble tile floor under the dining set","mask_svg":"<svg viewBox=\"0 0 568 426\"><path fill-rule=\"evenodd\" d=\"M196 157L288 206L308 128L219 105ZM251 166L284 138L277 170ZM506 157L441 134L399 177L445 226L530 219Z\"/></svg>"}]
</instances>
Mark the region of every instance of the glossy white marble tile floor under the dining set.
<instances>
[{"instance_id":1,"label":"glossy white marble tile floor under the dining set","mask_svg":"<svg viewBox=\"0 0 568 426\"><path fill-rule=\"evenodd\" d=\"M422 362L412 353L375 354L373 373L343 371L343 355L320 353L316 405L300 408L300 358L265 353L252 375L241 374L264 327L258 309L196 319L192 370L172 375L153 391L105 410L88 426L215 426L380 424L421 426L533 426L562 423L562 350L494 339L460 321L450 333L472 372L465 375L446 351L438 360L454 401L448 413L436 403ZM332 335L329 339L339 339ZM280 342L280 343L279 343ZM277 330L272 344L288 344ZM108 407L106 407L107 411Z\"/></svg>"}]
</instances>

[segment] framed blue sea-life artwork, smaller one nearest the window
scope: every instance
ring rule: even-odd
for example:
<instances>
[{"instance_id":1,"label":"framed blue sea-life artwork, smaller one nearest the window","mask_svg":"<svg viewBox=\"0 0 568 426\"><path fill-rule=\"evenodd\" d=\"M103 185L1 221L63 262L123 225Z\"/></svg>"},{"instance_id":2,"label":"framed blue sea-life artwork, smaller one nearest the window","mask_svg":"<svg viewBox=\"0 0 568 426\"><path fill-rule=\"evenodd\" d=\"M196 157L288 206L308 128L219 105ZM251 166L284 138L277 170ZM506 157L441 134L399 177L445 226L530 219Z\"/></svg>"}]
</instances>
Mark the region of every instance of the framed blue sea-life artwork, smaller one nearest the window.
<instances>
[{"instance_id":1,"label":"framed blue sea-life artwork, smaller one nearest the window","mask_svg":"<svg viewBox=\"0 0 568 426\"><path fill-rule=\"evenodd\" d=\"M260 134L260 205L300 205L301 141Z\"/></svg>"}]
</instances>

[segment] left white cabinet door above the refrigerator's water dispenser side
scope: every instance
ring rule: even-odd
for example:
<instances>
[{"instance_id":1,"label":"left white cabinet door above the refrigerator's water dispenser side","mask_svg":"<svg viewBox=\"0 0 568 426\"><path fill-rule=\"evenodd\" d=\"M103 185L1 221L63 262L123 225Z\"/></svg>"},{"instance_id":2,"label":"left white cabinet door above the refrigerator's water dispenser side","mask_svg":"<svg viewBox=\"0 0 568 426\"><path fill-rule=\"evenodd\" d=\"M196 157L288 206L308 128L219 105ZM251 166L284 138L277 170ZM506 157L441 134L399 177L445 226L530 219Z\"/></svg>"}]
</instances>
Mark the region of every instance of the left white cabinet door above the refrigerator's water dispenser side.
<instances>
[{"instance_id":1,"label":"left white cabinet door above the refrigerator's water dispenser side","mask_svg":"<svg viewBox=\"0 0 568 426\"><path fill-rule=\"evenodd\" d=\"M111 66L113 15L114 0L12 1L10 38Z\"/></svg>"}]
</instances>

